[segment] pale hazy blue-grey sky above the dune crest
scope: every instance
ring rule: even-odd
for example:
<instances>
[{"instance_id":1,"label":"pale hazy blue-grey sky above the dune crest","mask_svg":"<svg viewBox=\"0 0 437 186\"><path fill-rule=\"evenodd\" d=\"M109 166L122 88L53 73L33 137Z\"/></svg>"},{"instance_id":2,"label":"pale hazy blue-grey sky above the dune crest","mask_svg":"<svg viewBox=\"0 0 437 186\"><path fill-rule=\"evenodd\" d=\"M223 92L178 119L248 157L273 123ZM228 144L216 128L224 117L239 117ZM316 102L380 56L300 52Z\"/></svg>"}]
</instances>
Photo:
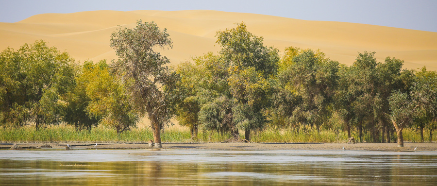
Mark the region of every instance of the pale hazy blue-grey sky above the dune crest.
<instances>
[{"instance_id":1,"label":"pale hazy blue-grey sky above the dune crest","mask_svg":"<svg viewBox=\"0 0 437 186\"><path fill-rule=\"evenodd\" d=\"M92 10L219 10L437 32L437 0L0 0L0 22Z\"/></svg>"}]
</instances>

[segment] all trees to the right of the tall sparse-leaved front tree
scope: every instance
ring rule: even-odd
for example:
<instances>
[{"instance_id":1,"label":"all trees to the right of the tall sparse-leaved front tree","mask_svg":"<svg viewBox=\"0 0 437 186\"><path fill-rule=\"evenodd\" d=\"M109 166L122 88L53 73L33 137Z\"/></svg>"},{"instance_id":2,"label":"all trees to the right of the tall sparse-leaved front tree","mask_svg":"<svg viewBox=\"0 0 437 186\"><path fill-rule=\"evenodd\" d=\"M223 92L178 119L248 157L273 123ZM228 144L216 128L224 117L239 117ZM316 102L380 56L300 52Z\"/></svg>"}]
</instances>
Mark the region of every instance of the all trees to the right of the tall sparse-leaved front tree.
<instances>
[{"instance_id":1,"label":"all trees to the right of the tall sparse-leaved front tree","mask_svg":"<svg viewBox=\"0 0 437 186\"><path fill-rule=\"evenodd\" d=\"M221 50L180 64L175 94L176 118L235 136L266 125L295 129L334 128L340 124L359 140L370 133L373 142L390 142L394 132L403 146L402 130L418 125L436 129L437 74L422 68L402 69L403 61L387 57L378 63L375 52L359 53L352 66L340 65L320 51L263 45L263 38L236 28L217 33Z\"/></svg>"}]
</instances>

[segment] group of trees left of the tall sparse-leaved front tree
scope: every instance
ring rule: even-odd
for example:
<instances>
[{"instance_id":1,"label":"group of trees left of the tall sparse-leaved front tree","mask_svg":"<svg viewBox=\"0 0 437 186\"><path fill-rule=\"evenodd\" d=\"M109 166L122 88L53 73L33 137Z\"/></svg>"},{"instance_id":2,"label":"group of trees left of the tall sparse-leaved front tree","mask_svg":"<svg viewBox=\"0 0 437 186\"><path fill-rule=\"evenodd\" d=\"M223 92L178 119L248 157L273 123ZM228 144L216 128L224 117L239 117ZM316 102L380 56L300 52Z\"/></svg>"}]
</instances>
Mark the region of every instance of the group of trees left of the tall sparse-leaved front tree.
<instances>
[{"instance_id":1,"label":"group of trees left of the tall sparse-leaved front tree","mask_svg":"<svg viewBox=\"0 0 437 186\"><path fill-rule=\"evenodd\" d=\"M102 123L122 132L138 115L105 61L76 65L46 42L0 54L0 122L22 127L66 122L78 130Z\"/></svg>"}]
</instances>

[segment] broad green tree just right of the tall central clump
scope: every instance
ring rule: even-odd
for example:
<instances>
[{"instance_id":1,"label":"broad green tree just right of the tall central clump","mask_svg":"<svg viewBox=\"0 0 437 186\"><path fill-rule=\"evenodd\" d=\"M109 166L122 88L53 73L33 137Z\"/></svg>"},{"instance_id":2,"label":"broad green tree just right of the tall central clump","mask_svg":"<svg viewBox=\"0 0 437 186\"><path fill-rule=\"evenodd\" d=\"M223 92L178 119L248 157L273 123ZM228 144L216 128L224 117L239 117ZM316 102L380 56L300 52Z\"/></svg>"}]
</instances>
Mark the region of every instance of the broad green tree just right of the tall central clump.
<instances>
[{"instance_id":1,"label":"broad green tree just right of the tall central clump","mask_svg":"<svg viewBox=\"0 0 437 186\"><path fill-rule=\"evenodd\" d=\"M293 55L296 53L293 48L287 50L292 50L289 53ZM294 123L314 125L319 129L330 116L338 62L325 58L321 52L298 49L297 55L286 64L289 65L279 72L279 81L291 86L300 100L288 117Z\"/></svg>"}]
</instances>

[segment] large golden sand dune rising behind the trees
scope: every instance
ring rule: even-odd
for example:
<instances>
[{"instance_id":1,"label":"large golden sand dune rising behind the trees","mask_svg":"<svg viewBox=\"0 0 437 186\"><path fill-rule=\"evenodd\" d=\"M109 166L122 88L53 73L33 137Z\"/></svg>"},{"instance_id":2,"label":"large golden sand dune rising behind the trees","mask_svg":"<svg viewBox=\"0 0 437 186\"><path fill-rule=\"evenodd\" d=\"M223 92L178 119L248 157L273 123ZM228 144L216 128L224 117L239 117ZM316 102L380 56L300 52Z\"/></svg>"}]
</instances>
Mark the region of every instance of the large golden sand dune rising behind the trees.
<instances>
[{"instance_id":1,"label":"large golden sand dune rising behind the trees","mask_svg":"<svg viewBox=\"0 0 437 186\"><path fill-rule=\"evenodd\" d=\"M172 64L208 51L218 51L216 32L244 21L248 30L263 36L267 46L320 49L327 57L351 65L357 52L376 51L378 61L387 56L405 61L404 68L437 70L437 33L366 24L306 21L257 14L209 10L191 11L90 11L41 14L16 23L0 23L0 50L17 49L43 39L78 61L117 58L109 47L110 34L134 27L136 20L155 21L167 28L174 47L162 51Z\"/></svg>"}]
</instances>

